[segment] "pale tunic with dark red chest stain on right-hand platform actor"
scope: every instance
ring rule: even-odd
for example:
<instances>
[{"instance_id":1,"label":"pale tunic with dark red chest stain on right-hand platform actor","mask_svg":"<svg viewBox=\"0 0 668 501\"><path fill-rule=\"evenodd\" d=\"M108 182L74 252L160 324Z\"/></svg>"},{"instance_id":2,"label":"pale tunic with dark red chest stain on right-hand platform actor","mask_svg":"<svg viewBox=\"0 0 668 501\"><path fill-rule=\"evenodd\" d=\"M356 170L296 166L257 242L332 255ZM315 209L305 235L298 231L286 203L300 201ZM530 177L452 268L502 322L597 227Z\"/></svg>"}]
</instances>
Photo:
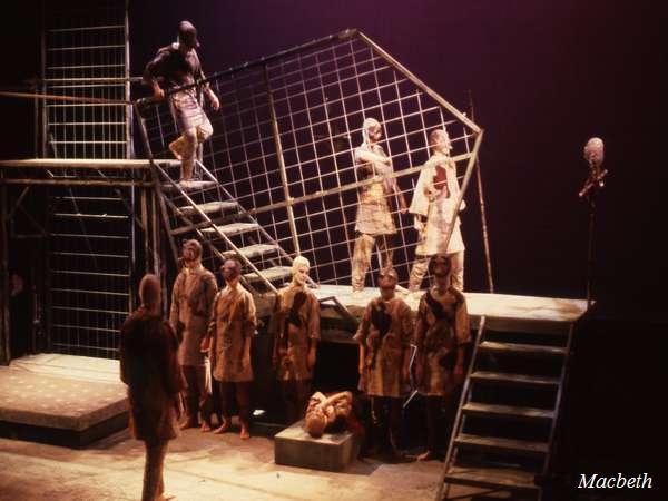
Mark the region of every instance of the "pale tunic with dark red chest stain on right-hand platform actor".
<instances>
[{"instance_id":1,"label":"pale tunic with dark red chest stain on right-hand platform actor","mask_svg":"<svg viewBox=\"0 0 668 501\"><path fill-rule=\"evenodd\" d=\"M441 171L439 171L441 170ZM430 190L435 194L430 194ZM436 254L454 254L465 249L459 216L454 218L454 204L460 193L456 180L454 160L443 155L432 155L420 171L415 185L411 214L426 217L424 228L420 229L420 238L415 254L433 256ZM462 208L464 202L462 200ZM445 245L445 236L453 224L450 242Z\"/></svg>"}]
</instances>

